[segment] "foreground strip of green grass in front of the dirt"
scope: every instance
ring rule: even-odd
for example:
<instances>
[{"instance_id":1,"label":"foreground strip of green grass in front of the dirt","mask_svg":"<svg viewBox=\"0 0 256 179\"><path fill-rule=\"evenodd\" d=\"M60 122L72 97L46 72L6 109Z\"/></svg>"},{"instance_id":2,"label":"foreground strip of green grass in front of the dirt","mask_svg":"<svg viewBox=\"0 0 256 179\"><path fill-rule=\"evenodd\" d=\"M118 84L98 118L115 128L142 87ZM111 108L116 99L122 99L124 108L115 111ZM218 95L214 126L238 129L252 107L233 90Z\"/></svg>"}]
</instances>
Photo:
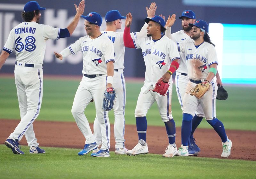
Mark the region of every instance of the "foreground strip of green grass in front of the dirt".
<instances>
[{"instance_id":1,"label":"foreground strip of green grass in front of the dirt","mask_svg":"<svg viewBox=\"0 0 256 179\"><path fill-rule=\"evenodd\" d=\"M78 156L79 149L44 147L45 154L14 155L0 145L1 178L254 178L256 162L161 155Z\"/></svg>"}]
</instances>

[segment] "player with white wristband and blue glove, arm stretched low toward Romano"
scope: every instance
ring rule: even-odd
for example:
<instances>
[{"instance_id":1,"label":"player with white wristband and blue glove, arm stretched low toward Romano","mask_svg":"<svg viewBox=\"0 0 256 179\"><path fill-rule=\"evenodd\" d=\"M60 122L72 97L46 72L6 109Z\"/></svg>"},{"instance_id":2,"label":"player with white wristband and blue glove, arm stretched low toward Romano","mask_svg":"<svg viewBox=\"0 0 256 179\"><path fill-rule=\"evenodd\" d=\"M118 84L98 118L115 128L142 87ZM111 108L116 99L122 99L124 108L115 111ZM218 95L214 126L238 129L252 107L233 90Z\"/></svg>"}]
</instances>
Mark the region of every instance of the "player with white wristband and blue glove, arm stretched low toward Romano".
<instances>
[{"instance_id":1,"label":"player with white wristband and blue glove, arm stretched low toward Romano","mask_svg":"<svg viewBox=\"0 0 256 179\"><path fill-rule=\"evenodd\" d=\"M100 32L102 17L97 12L90 12L85 19L85 31L87 35L78 39L60 53L55 52L57 58L65 58L68 55L83 53L83 78L76 91L72 106L72 114L78 128L83 133L86 141L84 149L78 155L84 155L97 148L95 137L92 134L88 120L84 115L86 106L94 100L97 119L100 124L102 146L94 157L109 157L110 148L110 124L108 111L102 109L104 91L112 88L114 75L114 45L106 35Z\"/></svg>"}]
</instances>

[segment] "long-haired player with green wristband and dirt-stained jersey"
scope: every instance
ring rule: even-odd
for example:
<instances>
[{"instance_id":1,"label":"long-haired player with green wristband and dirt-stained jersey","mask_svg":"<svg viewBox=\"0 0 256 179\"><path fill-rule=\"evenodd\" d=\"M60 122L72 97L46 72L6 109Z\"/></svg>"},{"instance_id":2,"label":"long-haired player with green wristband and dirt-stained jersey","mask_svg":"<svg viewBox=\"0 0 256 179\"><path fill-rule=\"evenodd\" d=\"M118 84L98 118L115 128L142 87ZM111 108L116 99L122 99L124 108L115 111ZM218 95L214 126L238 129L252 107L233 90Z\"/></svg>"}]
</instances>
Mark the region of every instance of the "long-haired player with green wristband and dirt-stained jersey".
<instances>
[{"instance_id":1,"label":"long-haired player with green wristband and dirt-stained jersey","mask_svg":"<svg viewBox=\"0 0 256 179\"><path fill-rule=\"evenodd\" d=\"M190 33L193 42L177 42L178 50L185 54L188 68L189 82L186 92L193 89L196 84L209 87L204 96L197 98L185 93L183 97L183 120L181 126L181 147L177 155L188 156L188 141L191 134L191 121L199 104L201 104L206 121L214 128L222 140L223 152L221 157L228 158L232 147L228 139L224 125L216 117L215 101L217 95L217 83L213 81L217 74L218 59L214 44L208 35L208 24L204 20L197 20Z\"/></svg>"}]
</instances>

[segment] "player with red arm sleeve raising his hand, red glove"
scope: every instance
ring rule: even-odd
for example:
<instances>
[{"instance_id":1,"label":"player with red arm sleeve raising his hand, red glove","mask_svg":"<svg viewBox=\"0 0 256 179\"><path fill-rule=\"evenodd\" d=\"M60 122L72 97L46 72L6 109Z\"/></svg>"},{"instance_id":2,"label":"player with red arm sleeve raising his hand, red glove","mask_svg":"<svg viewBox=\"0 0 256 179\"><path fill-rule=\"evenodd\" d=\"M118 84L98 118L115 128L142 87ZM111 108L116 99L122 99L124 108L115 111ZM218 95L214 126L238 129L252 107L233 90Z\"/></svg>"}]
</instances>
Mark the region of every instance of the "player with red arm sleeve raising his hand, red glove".
<instances>
[{"instance_id":1,"label":"player with red arm sleeve raising his hand, red glove","mask_svg":"<svg viewBox=\"0 0 256 179\"><path fill-rule=\"evenodd\" d=\"M144 86L141 88L135 109L139 143L132 150L127 151L126 154L138 155L148 153L146 114L151 105L156 101L169 139L169 145L163 156L173 157L177 153L177 147L175 144L175 122L172 118L171 110L172 87L167 90L165 96L153 92L152 89L154 89L159 78L162 78L164 82L169 82L172 86L171 75L179 67L180 56L175 43L161 34L165 32L163 18L154 16L151 19L146 18L145 22L148 23L147 37L132 40L130 35L132 15L131 13L126 15L124 45L129 48L140 48L146 65Z\"/></svg>"}]
</instances>

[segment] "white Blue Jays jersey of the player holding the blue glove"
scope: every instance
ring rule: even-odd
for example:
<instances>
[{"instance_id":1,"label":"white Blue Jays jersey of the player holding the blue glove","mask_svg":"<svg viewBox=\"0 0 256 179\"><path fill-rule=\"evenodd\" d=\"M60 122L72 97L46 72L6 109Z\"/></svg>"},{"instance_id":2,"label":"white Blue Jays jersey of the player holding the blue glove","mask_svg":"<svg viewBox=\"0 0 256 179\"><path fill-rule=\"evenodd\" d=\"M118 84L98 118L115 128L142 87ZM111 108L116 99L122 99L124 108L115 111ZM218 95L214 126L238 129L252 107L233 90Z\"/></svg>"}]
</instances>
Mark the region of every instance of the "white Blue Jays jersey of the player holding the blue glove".
<instances>
[{"instance_id":1,"label":"white Blue Jays jersey of the player holding the blue glove","mask_svg":"<svg viewBox=\"0 0 256 179\"><path fill-rule=\"evenodd\" d=\"M85 35L60 52L63 58L78 51L83 53L83 74L107 74L107 63L115 62L114 45L106 35L95 39Z\"/></svg>"}]
</instances>

